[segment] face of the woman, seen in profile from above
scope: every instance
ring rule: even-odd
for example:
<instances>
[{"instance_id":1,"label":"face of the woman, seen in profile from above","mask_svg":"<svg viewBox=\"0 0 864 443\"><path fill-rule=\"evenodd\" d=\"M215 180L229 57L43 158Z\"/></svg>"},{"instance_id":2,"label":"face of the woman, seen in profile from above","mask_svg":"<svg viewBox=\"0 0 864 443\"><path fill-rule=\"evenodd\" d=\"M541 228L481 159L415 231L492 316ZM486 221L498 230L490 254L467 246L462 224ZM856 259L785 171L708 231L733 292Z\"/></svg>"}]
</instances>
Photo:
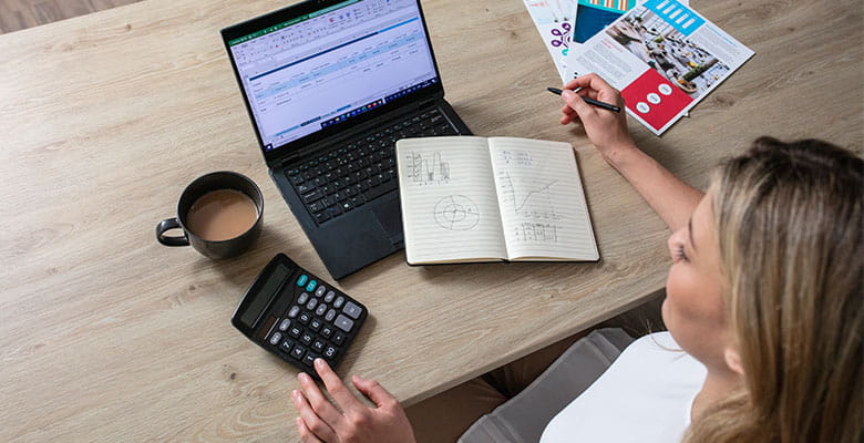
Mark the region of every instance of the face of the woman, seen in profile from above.
<instances>
[{"instance_id":1,"label":"face of the woman, seen in profile from above","mask_svg":"<svg viewBox=\"0 0 864 443\"><path fill-rule=\"evenodd\" d=\"M662 317L681 348L707 367L724 365L729 344L723 309L724 280L713 231L711 194L688 223L669 237L672 267L666 281Z\"/></svg>"}]
</instances>

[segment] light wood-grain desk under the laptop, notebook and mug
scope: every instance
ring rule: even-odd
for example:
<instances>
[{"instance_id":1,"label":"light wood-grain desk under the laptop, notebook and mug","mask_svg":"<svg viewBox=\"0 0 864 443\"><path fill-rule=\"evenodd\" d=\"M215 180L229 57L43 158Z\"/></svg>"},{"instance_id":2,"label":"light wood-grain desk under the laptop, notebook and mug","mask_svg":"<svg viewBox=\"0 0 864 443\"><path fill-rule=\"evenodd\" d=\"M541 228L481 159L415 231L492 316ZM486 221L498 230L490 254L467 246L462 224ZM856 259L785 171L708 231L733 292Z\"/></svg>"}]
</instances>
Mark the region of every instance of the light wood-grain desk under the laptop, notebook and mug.
<instances>
[{"instance_id":1,"label":"light wood-grain desk under the laptop, notebook and mug","mask_svg":"<svg viewBox=\"0 0 864 443\"><path fill-rule=\"evenodd\" d=\"M279 1L148 0L0 37L0 440L294 441L296 371L228 320L284 251L327 272L258 152L218 30ZM696 186L755 136L861 151L855 1L695 7L757 55L650 154ZM586 138L518 0L429 0L448 97L481 135L574 143L600 264L409 268L341 281L372 317L341 367L413 403L614 316L662 288L668 231ZM741 8L741 9L739 9ZM261 187L265 234L213 262L154 239L193 178Z\"/></svg>"}]
</instances>

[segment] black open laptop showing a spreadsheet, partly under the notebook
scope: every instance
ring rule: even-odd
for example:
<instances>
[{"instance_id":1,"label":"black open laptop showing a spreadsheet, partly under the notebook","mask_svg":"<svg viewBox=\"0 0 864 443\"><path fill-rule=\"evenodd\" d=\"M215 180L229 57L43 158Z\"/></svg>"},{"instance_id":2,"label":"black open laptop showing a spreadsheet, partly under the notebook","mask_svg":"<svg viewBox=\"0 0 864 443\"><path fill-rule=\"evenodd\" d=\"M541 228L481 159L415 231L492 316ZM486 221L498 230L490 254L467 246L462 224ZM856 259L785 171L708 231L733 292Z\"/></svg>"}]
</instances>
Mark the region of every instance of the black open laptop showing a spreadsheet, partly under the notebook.
<instances>
[{"instance_id":1,"label":"black open laptop showing a spreadsheet, partly under the notebook","mask_svg":"<svg viewBox=\"0 0 864 443\"><path fill-rule=\"evenodd\" d=\"M419 0L309 0L222 30L264 159L335 279L404 247L395 142L470 135Z\"/></svg>"}]
</instances>

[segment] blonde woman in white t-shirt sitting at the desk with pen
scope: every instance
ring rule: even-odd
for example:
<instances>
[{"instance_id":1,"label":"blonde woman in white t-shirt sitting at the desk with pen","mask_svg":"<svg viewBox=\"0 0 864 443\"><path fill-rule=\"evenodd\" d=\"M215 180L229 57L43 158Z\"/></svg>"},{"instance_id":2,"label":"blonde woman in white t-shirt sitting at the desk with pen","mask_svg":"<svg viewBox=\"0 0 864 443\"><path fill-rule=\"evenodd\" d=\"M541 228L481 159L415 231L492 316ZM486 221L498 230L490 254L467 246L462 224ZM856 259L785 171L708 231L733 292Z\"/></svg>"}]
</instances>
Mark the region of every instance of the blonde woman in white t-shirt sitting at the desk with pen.
<instances>
[{"instance_id":1,"label":"blonde woman in white t-shirt sitting at the desk with pen","mask_svg":"<svg viewBox=\"0 0 864 443\"><path fill-rule=\"evenodd\" d=\"M763 137L721 165L703 195L639 151L623 114L580 100L623 106L606 82L589 74L565 87L562 124L580 122L673 230L662 306L671 337L630 344L541 442L861 442L864 162L822 142ZM300 374L294 400L305 442L414 441L378 383L352 378L377 405L367 408L322 361L316 369L342 412ZM639 385L661 389L616 391L640 375ZM621 400L629 415L609 420ZM477 441L473 430L463 441Z\"/></svg>"}]
</instances>

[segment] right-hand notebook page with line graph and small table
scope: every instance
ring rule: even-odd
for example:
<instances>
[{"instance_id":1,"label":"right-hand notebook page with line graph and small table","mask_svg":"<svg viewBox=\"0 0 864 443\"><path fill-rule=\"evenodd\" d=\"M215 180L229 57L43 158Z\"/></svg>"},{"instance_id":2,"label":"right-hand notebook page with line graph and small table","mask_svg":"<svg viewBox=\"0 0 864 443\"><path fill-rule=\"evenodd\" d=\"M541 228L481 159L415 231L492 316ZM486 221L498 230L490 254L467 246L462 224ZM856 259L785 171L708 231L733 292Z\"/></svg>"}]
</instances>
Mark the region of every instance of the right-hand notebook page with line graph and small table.
<instances>
[{"instance_id":1,"label":"right-hand notebook page with line graph and small table","mask_svg":"<svg viewBox=\"0 0 864 443\"><path fill-rule=\"evenodd\" d=\"M510 259L599 259L569 144L496 137L490 153Z\"/></svg>"}]
</instances>

